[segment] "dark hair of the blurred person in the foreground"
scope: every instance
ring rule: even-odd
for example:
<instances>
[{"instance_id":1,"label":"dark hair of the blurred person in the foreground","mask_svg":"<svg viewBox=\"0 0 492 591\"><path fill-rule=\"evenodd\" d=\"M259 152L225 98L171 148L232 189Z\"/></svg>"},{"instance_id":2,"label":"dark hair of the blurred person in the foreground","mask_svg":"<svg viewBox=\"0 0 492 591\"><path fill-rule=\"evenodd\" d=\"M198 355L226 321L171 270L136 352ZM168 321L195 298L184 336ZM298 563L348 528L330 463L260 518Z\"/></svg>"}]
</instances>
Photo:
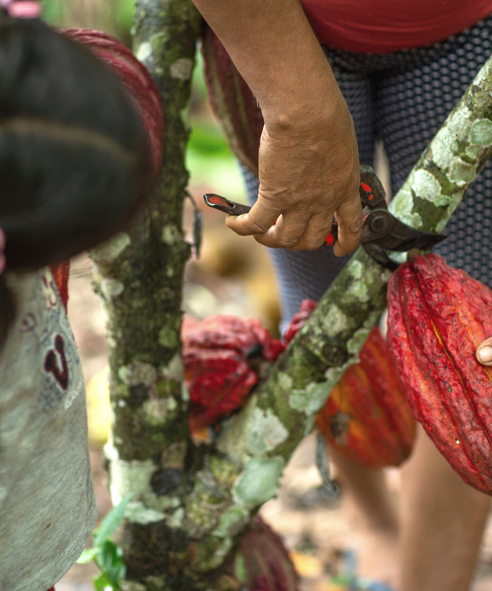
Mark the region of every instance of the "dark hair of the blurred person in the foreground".
<instances>
[{"instance_id":1,"label":"dark hair of the blurred person in the foreground","mask_svg":"<svg viewBox=\"0 0 492 591\"><path fill-rule=\"evenodd\" d=\"M37 269L109 238L150 177L141 116L115 74L39 20L0 17L6 269ZM12 317L5 290L0 275L0 346Z\"/></svg>"}]
</instances>

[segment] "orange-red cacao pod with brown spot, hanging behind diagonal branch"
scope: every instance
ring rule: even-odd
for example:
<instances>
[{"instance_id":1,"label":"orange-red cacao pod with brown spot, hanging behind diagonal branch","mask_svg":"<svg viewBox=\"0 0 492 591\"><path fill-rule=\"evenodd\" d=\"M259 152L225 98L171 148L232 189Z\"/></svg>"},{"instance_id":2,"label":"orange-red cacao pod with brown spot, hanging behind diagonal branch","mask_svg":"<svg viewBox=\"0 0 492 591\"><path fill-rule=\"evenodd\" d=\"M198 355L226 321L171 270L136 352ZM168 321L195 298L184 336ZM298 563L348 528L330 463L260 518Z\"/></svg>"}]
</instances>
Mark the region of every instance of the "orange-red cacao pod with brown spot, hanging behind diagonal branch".
<instances>
[{"instance_id":1,"label":"orange-red cacao pod with brown spot, hanging behind diagonal branch","mask_svg":"<svg viewBox=\"0 0 492 591\"><path fill-rule=\"evenodd\" d=\"M415 421L385 340L374 327L316 419L325 439L370 469L399 466L410 454Z\"/></svg>"}]
</instances>

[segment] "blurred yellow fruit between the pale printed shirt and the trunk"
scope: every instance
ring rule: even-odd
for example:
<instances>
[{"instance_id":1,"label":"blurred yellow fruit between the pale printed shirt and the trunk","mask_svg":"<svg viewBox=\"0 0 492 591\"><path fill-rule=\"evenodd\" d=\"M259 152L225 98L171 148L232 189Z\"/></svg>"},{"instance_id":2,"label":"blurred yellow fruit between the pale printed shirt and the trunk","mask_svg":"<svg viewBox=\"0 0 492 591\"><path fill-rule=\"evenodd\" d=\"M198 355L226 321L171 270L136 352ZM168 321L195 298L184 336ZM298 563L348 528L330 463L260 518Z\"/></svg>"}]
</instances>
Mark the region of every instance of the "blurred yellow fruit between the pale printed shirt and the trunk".
<instances>
[{"instance_id":1,"label":"blurred yellow fruit between the pale printed shirt and the trunk","mask_svg":"<svg viewBox=\"0 0 492 591\"><path fill-rule=\"evenodd\" d=\"M111 426L108 374L107 366L100 369L90 378L86 387L89 441L97 446L103 446L106 443Z\"/></svg>"}]
</instances>

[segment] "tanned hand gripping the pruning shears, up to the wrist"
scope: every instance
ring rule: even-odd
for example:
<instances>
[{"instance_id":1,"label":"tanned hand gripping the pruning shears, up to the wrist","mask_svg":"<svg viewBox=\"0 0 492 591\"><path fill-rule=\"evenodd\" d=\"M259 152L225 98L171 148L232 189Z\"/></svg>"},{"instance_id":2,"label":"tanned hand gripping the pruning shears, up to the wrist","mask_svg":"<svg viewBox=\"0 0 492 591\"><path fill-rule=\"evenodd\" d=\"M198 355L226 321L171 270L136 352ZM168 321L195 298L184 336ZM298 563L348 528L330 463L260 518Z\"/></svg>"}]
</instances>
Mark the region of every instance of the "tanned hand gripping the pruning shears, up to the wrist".
<instances>
[{"instance_id":1,"label":"tanned hand gripping the pruning shears, up to the wrist","mask_svg":"<svg viewBox=\"0 0 492 591\"><path fill-rule=\"evenodd\" d=\"M335 255L357 248L363 222L359 152L347 105L339 90L334 94L330 102L320 92L293 124L270 125L265 116L258 202L245 215L227 217L234 232L271 248L315 250L335 215Z\"/></svg>"}]
</instances>

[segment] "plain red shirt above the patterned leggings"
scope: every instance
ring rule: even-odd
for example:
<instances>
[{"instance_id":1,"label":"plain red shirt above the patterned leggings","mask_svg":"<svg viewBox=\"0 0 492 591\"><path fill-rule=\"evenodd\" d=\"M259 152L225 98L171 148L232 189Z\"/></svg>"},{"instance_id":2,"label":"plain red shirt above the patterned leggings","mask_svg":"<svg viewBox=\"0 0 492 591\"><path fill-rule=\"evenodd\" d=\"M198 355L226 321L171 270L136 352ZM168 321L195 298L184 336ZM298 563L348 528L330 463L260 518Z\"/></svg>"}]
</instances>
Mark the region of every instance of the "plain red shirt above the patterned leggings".
<instances>
[{"instance_id":1,"label":"plain red shirt above the patterned leggings","mask_svg":"<svg viewBox=\"0 0 492 591\"><path fill-rule=\"evenodd\" d=\"M492 12L492 0L301 0L322 44L360 53L425 47Z\"/></svg>"}]
</instances>

